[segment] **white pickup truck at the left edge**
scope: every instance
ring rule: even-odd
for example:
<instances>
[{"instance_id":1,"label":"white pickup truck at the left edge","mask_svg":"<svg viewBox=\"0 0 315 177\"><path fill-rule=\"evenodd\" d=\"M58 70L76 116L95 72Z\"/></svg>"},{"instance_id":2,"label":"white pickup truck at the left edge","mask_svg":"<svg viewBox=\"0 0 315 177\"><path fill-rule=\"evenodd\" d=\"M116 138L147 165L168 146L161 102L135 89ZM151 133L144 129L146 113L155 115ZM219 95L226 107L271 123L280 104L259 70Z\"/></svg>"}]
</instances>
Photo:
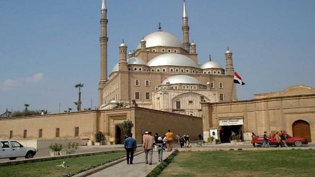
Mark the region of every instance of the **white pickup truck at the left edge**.
<instances>
[{"instance_id":1,"label":"white pickup truck at the left edge","mask_svg":"<svg viewBox=\"0 0 315 177\"><path fill-rule=\"evenodd\" d=\"M17 141L0 140L0 158L15 160L18 157L33 158L38 149L24 147Z\"/></svg>"}]
</instances>

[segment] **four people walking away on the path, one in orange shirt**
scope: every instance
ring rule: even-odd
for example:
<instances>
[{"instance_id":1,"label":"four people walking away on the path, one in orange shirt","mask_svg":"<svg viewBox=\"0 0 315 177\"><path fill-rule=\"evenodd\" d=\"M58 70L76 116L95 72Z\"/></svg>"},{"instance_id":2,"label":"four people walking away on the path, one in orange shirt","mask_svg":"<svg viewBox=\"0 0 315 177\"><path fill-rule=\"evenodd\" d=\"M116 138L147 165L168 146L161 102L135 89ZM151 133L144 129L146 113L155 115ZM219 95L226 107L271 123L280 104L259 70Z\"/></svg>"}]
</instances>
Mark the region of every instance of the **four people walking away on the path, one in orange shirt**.
<instances>
[{"instance_id":1,"label":"four people walking away on the path, one in orange shirt","mask_svg":"<svg viewBox=\"0 0 315 177\"><path fill-rule=\"evenodd\" d=\"M157 152L159 162L163 160L163 150L165 150L166 147L167 151L173 150L173 133L171 130L168 130L165 136L158 136L158 134L155 133L154 137L152 136L152 132L146 131L142 136L142 141L142 147L145 151L145 162L149 165L152 165L153 148L155 152ZM127 151L127 164L133 164L134 151L137 148L137 143L136 140L132 138L132 133L125 139L124 148Z\"/></svg>"}]
</instances>

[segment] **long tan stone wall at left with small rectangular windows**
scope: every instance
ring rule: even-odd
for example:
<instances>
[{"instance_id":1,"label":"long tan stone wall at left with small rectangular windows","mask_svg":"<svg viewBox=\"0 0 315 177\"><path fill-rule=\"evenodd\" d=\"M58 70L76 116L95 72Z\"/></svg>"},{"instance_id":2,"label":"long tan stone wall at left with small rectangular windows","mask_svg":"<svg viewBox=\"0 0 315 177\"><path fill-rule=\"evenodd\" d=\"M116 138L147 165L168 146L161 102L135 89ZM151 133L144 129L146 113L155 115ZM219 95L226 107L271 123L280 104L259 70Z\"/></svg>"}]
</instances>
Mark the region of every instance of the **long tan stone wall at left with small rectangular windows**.
<instances>
[{"instance_id":1,"label":"long tan stone wall at left with small rectangular windows","mask_svg":"<svg viewBox=\"0 0 315 177\"><path fill-rule=\"evenodd\" d=\"M138 143L142 143L142 134L145 131L164 135L171 129L174 134L190 135L192 140L197 140L198 134L202 132L201 118L131 107L3 118L0 119L0 139L95 141L95 134L101 131L105 135L103 143L121 144L124 136L121 124L124 120L133 122L132 133Z\"/></svg>"}]
</instances>

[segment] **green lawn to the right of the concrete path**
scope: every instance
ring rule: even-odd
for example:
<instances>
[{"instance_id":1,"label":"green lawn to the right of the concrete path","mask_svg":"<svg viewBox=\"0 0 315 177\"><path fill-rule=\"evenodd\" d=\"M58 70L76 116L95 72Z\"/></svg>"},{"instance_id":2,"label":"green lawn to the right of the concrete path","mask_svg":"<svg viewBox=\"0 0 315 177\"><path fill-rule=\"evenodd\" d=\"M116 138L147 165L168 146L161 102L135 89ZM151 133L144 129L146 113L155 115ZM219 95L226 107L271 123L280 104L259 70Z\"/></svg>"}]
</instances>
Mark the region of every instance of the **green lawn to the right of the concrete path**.
<instances>
[{"instance_id":1,"label":"green lawn to the right of the concrete path","mask_svg":"<svg viewBox=\"0 0 315 177\"><path fill-rule=\"evenodd\" d=\"M315 176L315 150L179 152L160 176Z\"/></svg>"}]
</instances>

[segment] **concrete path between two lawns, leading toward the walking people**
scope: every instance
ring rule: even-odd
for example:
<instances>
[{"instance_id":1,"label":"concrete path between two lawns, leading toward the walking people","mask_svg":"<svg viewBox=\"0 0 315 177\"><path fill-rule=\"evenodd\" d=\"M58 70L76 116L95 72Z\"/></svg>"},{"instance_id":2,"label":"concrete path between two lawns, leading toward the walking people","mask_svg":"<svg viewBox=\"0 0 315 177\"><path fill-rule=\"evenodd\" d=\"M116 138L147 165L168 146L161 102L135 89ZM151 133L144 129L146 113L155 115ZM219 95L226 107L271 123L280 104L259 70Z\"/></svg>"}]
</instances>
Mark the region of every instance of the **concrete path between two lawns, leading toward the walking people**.
<instances>
[{"instance_id":1,"label":"concrete path between two lawns, leading toward the walking people","mask_svg":"<svg viewBox=\"0 0 315 177\"><path fill-rule=\"evenodd\" d=\"M174 150L173 150L174 152ZM163 160L172 152L163 152ZM145 153L142 153L138 156L134 157L133 165L127 164L127 160L117 163L107 169L103 169L95 174L91 174L90 177L98 177L98 176L106 176L106 177L117 177L117 176L128 176L128 177L145 177L149 174L157 165L160 163L158 162L157 152L153 150L152 156L152 165L145 163Z\"/></svg>"}]
</instances>

